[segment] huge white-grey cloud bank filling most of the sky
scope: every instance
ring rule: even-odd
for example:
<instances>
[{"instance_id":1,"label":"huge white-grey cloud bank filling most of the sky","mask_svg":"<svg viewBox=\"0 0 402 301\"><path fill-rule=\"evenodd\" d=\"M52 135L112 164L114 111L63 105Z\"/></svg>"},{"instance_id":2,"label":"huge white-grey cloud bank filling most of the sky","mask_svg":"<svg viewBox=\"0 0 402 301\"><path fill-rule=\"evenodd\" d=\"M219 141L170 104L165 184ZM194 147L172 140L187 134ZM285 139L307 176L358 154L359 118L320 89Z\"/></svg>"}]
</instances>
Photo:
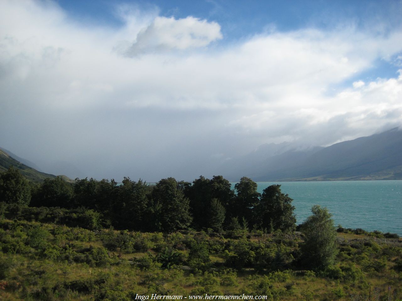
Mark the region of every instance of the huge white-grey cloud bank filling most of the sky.
<instances>
[{"instance_id":1,"label":"huge white-grey cloud bank filling most of the sky","mask_svg":"<svg viewBox=\"0 0 402 301\"><path fill-rule=\"evenodd\" d=\"M44 161L105 164L104 177L121 161L145 176L155 158L168 170L285 138L329 144L402 120L400 76L327 93L398 55L400 30L271 31L208 49L222 38L219 24L156 14L122 8L116 30L72 22L51 2L0 2L2 146L27 149L31 161L46 146ZM120 55L127 47L141 55Z\"/></svg>"}]
</instances>

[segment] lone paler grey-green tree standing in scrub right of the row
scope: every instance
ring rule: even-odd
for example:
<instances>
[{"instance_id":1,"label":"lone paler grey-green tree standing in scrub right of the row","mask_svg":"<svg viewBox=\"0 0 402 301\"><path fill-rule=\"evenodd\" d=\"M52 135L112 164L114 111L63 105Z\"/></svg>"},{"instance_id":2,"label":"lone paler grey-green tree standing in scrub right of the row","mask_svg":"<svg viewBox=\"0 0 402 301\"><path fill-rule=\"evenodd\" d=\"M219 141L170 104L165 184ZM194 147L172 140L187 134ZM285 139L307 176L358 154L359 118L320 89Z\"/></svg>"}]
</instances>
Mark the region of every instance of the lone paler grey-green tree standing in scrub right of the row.
<instances>
[{"instance_id":1,"label":"lone paler grey-green tree standing in scrub right of the row","mask_svg":"<svg viewBox=\"0 0 402 301\"><path fill-rule=\"evenodd\" d=\"M301 254L309 267L322 270L334 263L336 256L336 228L327 208L314 205L309 216L301 225L304 244Z\"/></svg>"}]
</instances>

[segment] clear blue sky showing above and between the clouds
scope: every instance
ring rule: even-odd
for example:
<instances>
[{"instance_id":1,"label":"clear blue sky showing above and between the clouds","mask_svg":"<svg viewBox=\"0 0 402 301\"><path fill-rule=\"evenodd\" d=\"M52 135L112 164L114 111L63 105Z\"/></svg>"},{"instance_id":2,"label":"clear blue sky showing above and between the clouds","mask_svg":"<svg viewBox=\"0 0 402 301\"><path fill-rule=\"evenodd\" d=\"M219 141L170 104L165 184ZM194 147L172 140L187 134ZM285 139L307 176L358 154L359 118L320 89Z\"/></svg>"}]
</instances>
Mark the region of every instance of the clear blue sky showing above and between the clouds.
<instances>
[{"instance_id":1,"label":"clear blue sky showing above and between the clouds","mask_svg":"<svg viewBox=\"0 0 402 301\"><path fill-rule=\"evenodd\" d=\"M400 1L69 1L57 3L70 18L88 25L124 26L115 13L118 5L131 4L139 9L158 10L160 16L186 18L194 16L215 21L221 25L223 39L219 45L238 43L253 35L263 34L275 28L277 31L294 31L299 28L320 28L334 30L340 24L349 24L360 30L375 27L381 22L381 31L389 32L400 26L402 12ZM343 82L332 86L332 92L345 88L353 81L373 81L377 77L395 77L398 65L391 61L377 59L372 66Z\"/></svg>"}]
</instances>

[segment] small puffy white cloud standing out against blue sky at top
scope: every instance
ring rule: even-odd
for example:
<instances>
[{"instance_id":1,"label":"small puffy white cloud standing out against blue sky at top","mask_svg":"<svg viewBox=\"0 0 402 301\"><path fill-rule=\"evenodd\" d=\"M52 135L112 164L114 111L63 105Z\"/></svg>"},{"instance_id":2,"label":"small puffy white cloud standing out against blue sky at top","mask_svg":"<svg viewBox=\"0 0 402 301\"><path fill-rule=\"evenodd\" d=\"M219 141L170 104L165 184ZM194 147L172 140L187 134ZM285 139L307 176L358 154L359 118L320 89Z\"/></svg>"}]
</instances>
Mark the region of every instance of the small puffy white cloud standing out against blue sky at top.
<instances>
[{"instance_id":1,"label":"small puffy white cloud standing out against blue sky at top","mask_svg":"<svg viewBox=\"0 0 402 301\"><path fill-rule=\"evenodd\" d=\"M150 51L205 47L219 39L222 39L221 27L216 22L192 16L178 20L174 17L157 16L138 33L136 41L126 54L134 56Z\"/></svg>"}]
</instances>

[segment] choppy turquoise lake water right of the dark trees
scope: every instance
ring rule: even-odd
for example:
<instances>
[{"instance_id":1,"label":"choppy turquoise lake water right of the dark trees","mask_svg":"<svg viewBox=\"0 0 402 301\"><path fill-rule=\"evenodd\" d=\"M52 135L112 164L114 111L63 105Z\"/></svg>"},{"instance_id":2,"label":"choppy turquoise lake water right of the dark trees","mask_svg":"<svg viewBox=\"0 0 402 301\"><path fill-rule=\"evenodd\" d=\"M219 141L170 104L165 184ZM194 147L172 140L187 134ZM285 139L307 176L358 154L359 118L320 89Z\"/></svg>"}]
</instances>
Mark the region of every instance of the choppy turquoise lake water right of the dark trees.
<instances>
[{"instance_id":1,"label":"choppy turquoise lake water right of the dark trees","mask_svg":"<svg viewBox=\"0 0 402 301\"><path fill-rule=\"evenodd\" d=\"M280 184L293 199L297 224L313 205L327 207L335 226L402 236L402 181L258 182L258 192ZM232 184L232 187L234 185Z\"/></svg>"}]
</instances>

